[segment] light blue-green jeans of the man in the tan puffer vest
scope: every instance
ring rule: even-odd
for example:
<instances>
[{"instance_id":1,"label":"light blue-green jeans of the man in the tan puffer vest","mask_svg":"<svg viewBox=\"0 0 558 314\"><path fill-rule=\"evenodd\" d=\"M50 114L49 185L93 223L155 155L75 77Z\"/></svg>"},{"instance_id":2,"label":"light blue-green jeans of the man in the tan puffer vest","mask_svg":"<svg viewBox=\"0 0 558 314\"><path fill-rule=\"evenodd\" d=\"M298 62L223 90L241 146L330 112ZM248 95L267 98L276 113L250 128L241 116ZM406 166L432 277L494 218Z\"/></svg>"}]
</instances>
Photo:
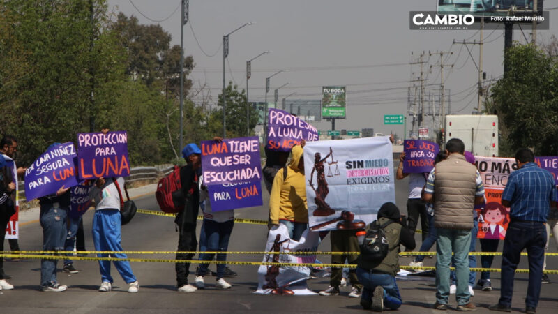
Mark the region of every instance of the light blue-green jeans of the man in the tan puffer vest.
<instances>
[{"instance_id":1,"label":"light blue-green jeans of the man in the tan puffer vest","mask_svg":"<svg viewBox=\"0 0 558 314\"><path fill-rule=\"evenodd\" d=\"M448 304L451 253L455 257L455 275L457 277L457 292L455 298L458 305L469 303L469 246L471 244L471 230L456 230L438 228L436 244L436 301L439 304ZM540 280L540 279L539 279Z\"/></svg>"}]
</instances>

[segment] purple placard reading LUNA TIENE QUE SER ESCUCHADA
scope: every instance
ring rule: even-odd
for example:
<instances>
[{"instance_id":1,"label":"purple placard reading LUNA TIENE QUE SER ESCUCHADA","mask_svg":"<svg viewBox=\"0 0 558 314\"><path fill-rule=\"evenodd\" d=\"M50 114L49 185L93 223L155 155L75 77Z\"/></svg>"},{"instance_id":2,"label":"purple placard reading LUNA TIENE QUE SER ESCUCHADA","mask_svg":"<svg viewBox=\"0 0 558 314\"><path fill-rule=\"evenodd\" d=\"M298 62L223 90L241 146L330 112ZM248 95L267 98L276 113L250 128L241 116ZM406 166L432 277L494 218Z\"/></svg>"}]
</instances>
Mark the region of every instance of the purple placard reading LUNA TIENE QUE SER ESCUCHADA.
<instances>
[{"instance_id":1,"label":"purple placard reading LUNA TIENE QUE SER ESCUCHADA","mask_svg":"<svg viewBox=\"0 0 558 314\"><path fill-rule=\"evenodd\" d=\"M204 184L238 184L262 180L256 136L202 142Z\"/></svg>"}]
</instances>

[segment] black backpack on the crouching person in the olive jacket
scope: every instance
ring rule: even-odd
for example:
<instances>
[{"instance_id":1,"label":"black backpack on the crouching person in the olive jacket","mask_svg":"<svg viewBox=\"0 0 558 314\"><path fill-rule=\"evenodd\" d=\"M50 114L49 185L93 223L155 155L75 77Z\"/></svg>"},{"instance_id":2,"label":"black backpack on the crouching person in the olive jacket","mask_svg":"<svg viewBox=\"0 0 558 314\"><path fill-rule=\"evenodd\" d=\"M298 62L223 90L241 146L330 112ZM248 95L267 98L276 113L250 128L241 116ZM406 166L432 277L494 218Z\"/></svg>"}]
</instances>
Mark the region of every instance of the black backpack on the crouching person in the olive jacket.
<instances>
[{"instance_id":1,"label":"black backpack on the crouching person in the olive jacket","mask_svg":"<svg viewBox=\"0 0 558 314\"><path fill-rule=\"evenodd\" d=\"M366 232L361 244L361 258L365 262L382 262L389 252L389 243L386 239L384 227L393 223L388 220L383 225L378 225L378 220L370 223L370 229Z\"/></svg>"}]
</instances>

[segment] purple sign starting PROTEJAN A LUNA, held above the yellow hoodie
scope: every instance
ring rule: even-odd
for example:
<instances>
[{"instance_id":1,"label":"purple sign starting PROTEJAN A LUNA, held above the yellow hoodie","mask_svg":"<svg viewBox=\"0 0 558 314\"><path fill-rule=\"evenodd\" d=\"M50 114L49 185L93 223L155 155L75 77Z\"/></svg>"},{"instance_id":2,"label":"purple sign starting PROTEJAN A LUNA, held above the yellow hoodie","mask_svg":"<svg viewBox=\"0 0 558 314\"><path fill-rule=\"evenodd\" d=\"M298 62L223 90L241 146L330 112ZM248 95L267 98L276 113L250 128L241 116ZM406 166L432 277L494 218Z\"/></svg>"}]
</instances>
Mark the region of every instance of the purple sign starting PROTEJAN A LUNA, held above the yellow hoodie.
<instances>
[{"instance_id":1,"label":"purple sign starting PROTEJAN A LUNA, held above the yellow hoodie","mask_svg":"<svg viewBox=\"0 0 558 314\"><path fill-rule=\"evenodd\" d=\"M294 117L289 112L269 108L269 126L267 128L266 147L272 151L291 151L300 144L318 140L318 131L306 121Z\"/></svg>"}]
</instances>

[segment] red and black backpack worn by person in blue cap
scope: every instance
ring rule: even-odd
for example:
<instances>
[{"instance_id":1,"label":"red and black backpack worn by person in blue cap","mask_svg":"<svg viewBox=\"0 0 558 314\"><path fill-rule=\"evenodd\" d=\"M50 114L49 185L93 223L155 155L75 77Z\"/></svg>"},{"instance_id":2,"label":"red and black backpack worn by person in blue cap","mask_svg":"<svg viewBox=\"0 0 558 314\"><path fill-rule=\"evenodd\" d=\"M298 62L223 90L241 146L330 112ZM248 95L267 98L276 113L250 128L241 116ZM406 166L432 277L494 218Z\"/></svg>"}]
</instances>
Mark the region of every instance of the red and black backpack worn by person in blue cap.
<instances>
[{"instance_id":1,"label":"red and black backpack worn by person in blue cap","mask_svg":"<svg viewBox=\"0 0 558 314\"><path fill-rule=\"evenodd\" d=\"M155 197L159 208L165 213L176 214L184 209L185 196L180 182L181 167L175 165L167 177L161 178L157 184Z\"/></svg>"}]
</instances>

